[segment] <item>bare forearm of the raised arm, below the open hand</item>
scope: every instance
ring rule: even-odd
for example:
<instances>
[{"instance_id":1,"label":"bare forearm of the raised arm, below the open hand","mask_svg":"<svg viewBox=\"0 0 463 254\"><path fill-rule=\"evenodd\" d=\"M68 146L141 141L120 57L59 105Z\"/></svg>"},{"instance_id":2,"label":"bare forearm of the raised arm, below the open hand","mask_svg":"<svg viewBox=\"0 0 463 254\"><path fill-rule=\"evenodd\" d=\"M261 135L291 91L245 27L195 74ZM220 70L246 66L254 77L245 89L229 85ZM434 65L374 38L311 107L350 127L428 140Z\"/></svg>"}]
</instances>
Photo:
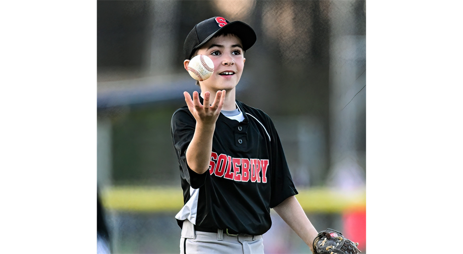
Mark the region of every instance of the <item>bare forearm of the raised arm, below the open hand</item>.
<instances>
[{"instance_id":1,"label":"bare forearm of the raised arm, below the open hand","mask_svg":"<svg viewBox=\"0 0 463 254\"><path fill-rule=\"evenodd\" d=\"M215 124L196 124L195 134L187 149L188 166L198 174L204 174L209 169L212 153L212 138Z\"/></svg>"}]
</instances>

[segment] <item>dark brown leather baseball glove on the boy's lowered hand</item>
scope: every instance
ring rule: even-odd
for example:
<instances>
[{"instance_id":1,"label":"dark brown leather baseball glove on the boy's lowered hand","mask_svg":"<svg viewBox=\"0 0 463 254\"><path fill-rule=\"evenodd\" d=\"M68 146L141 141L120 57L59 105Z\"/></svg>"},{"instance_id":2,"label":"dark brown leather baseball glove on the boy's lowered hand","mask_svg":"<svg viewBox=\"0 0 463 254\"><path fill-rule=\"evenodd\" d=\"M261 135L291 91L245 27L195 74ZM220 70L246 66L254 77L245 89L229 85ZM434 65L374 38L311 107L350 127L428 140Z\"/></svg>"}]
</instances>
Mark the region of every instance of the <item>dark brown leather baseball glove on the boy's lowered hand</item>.
<instances>
[{"instance_id":1,"label":"dark brown leather baseball glove on the boy's lowered hand","mask_svg":"<svg viewBox=\"0 0 463 254\"><path fill-rule=\"evenodd\" d=\"M358 243L344 238L341 232L328 228L313 241L314 254L359 254Z\"/></svg>"}]
</instances>

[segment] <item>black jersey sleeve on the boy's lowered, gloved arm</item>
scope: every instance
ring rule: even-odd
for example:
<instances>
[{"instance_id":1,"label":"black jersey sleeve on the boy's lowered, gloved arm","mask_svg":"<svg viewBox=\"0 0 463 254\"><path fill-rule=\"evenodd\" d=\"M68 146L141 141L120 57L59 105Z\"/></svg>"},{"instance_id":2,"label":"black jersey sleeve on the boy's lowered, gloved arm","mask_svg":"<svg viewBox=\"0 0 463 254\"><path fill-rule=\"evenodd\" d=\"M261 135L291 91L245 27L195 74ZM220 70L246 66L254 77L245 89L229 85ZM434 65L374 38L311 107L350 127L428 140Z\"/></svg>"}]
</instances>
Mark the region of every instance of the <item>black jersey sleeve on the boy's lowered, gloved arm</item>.
<instances>
[{"instance_id":1,"label":"black jersey sleeve on the boy's lowered, gloved arm","mask_svg":"<svg viewBox=\"0 0 463 254\"><path fill-rule=\"evenodd\" d=\"M287 198L298 194L293 183L293 178L286 161L283 146L281 145L280 137L271 121L267 118L268 126L270 127L271 136L271 198L270 208L274 208L285 201Z\"/></svg>"}]
</instances>

